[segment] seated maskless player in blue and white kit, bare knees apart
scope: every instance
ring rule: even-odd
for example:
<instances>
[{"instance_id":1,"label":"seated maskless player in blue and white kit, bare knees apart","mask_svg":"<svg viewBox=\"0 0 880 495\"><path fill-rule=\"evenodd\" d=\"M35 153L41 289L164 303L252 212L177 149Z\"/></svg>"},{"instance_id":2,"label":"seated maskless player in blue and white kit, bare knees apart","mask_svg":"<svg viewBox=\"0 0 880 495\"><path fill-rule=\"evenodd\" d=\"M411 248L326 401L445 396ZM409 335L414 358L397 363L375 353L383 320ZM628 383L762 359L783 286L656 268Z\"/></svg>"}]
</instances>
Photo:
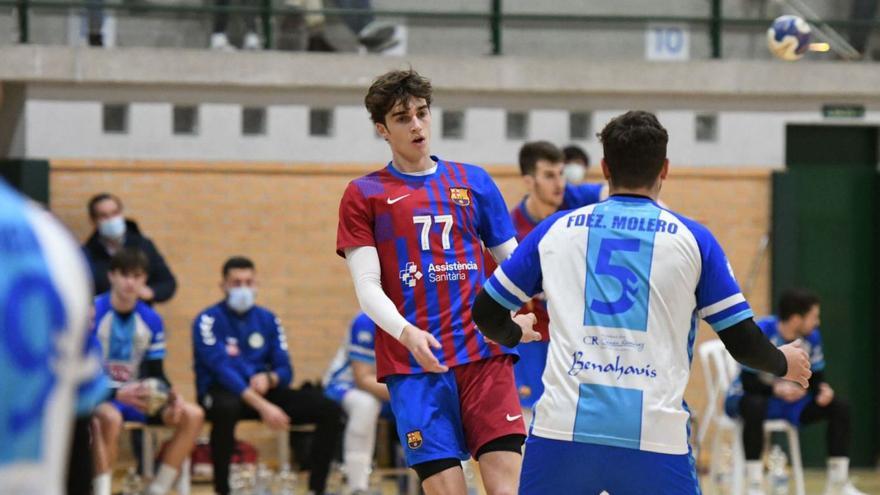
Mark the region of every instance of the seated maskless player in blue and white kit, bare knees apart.
<instances>
[{"instance_id":1,"label":"seated maskless player in blue and white kit, bare knees apart","mask_svg":"<svg viewBox=\"0 0 880 495\"><path fill-rule=\"evenodd\" d=\"M159 471L147 489L148 495L168 493L204 422L202 410L177 395L165 376L162 318L139 299L147 283L147 273L147 256L139 249L123 248L110 258L107 272L110 292L95 298L92 332L101 344L104 367L111 379L111 400L98 406L93 423L96 495L110 493L112 467L123 421L174 428ZM170 390L168 402L152 415L147 413L148 392L142 384L135 383L148 377L161 380Z\"/></svg>"}]
</instances>

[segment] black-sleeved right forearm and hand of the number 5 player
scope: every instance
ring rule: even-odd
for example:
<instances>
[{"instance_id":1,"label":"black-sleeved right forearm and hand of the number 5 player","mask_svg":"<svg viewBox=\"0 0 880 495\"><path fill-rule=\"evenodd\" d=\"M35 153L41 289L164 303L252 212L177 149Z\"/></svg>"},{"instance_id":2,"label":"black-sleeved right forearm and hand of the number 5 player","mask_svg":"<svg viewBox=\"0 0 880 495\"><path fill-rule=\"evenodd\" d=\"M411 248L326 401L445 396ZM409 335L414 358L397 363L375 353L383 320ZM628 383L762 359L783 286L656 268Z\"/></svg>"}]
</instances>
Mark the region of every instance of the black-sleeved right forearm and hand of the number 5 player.
<instances>
[{"instance_id":1,"label":"black-sleeved right forearm and hand of the number 5 player","mask_svg":"<svg viewBox=\"0 0 880 495\"><path fill-rule=\"evenodd\" d=\"M799 342L776 348L751 318L720 331L718 336L741 364L781 376L804 388L809 386L810 359Z\"/></svg>"}]
</instances>

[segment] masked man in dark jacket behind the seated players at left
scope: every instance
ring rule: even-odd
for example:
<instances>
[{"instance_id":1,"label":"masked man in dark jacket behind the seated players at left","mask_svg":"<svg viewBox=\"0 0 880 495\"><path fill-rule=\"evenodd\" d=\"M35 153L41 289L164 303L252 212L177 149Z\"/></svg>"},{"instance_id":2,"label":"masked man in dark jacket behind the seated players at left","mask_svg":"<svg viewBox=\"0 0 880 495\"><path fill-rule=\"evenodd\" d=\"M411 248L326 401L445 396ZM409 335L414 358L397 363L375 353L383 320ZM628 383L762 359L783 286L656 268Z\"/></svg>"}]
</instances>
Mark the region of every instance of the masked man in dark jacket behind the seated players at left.
<instances>
[{"instance_id":1,"label":"masked man in dark jacket behind the seated players at left","mask_svg":"<svg viewBox=\"0 0 880 495\"><path fill-rule=\"evenodd\" d=\"M123 216L122 201L113 194L100 193L89 200L88 211L95 230L83 245L83 252L92 269L95 294L110 290L110 258L123 247L133 247L147 255L150 265L147 283L138 297L148 304L171 299L177 281L153 241L141 234L137 223Z\"/></svg>"}]
</instances>

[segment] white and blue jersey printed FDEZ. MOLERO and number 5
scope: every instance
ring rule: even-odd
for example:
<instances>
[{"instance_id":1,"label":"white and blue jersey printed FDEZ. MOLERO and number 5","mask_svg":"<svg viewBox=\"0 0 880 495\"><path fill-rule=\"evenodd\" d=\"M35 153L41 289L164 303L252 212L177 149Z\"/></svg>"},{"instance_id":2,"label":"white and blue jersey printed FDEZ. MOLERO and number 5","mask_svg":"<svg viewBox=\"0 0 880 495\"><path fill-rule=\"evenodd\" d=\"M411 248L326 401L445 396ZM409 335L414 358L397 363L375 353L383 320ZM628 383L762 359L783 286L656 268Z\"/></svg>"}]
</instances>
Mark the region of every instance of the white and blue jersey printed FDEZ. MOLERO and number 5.
<instances>
[{"instance_id":1,"label":"white and blue jersey printed FDEZ. MOLERO and number 5","mask_svg":"<svg viewBox=\"0 0 880 495\"><path fill-rule=\"evenodd\" d=\"M752 317L709 230L640 196L551 216L485 289L510 310L547 298L533 435L663 454L689 452L698 319L720 332Z\"/></svg>"}]
</instances>

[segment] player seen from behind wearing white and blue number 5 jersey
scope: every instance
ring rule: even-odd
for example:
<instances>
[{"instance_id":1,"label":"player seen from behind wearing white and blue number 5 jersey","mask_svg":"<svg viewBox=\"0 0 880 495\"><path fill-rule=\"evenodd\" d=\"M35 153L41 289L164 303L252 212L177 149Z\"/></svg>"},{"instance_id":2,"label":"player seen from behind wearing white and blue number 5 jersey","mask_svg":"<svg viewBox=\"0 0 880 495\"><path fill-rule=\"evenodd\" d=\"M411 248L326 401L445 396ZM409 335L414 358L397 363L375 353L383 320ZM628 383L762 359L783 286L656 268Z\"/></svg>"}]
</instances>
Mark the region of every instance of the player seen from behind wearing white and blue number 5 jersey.
<instances>
[{"instance_id":1,"label":"player seen from behind wearing white and blue number 5 jersey","mask_svg":"<svg viewBox=\"0 0 880 495\"><path fill-rule=\"evenodd\" d=\"M513 346L510 311L547 298L547 388L520 493L700 493L684 403L697 316L752 368L806 387L809 360L764 337L712 234L657 205L669 163L656 117L627 112L600 137L610 198L545 220L474 305L480 330Z\"/></svg>"}]
</instances>

